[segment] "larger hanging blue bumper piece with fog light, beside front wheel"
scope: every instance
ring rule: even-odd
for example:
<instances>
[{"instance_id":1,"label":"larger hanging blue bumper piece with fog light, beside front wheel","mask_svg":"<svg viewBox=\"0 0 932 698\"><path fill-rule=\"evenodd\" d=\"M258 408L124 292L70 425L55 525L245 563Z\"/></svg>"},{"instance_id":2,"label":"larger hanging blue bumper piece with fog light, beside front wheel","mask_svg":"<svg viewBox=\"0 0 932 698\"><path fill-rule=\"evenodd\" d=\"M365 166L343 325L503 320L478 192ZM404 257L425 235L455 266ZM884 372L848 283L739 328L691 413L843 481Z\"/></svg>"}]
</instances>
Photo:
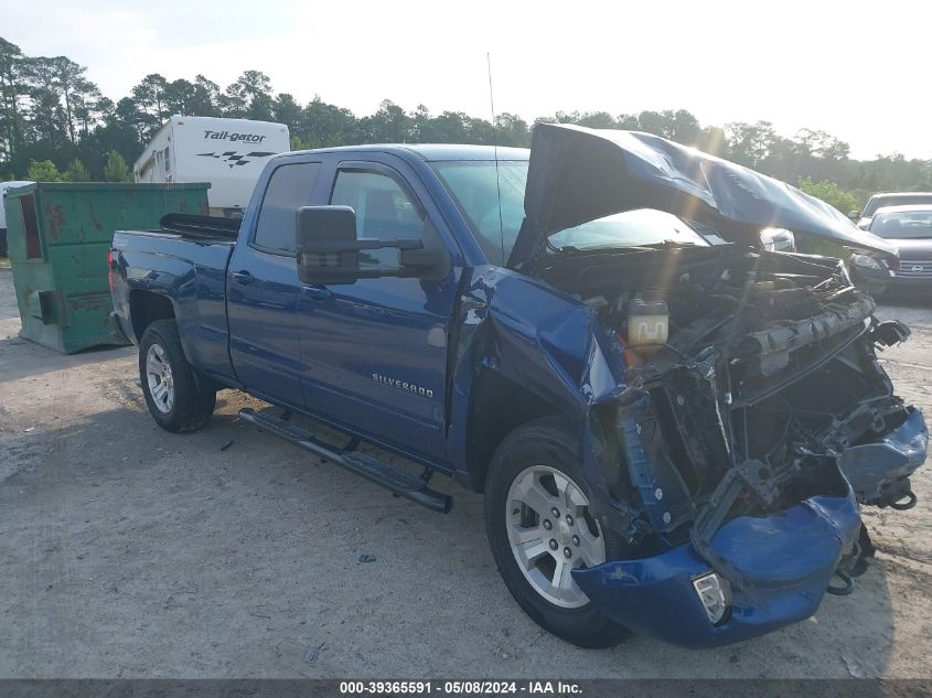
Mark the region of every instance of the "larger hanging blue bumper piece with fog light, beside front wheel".
<instances>
[{"instance_id":1,"label":"larger hanging blue bumper piece with fog light, beside front wheel","mask_svg":"<svg viewBox=\"0 0 932 698\"><path fill-rule=\"evenodd\" d=\"M860 526L850 491L725 524L713 537L713 551L742 573L748 588L732 589L730 615L718 625L708 620L693 588L693 580L710 570L690 544L572 574L602 613L638 633L690 647L724 645L815 613Z\"/></svg>"}]
</instances>

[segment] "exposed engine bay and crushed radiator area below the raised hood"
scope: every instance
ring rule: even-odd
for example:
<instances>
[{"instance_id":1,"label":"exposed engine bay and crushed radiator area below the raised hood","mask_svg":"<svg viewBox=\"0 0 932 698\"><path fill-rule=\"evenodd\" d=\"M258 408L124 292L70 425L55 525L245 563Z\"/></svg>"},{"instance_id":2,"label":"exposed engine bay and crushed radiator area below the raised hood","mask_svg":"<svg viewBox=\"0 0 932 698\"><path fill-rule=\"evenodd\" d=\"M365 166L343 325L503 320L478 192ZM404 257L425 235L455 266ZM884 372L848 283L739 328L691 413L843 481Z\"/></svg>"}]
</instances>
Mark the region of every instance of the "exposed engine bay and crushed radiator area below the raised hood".
<instances>
[{"instance_id":1,"label":"exposed engine bay and crushed radiator area below the raised hood","mask_svg":"<svg viewBox=\"0 0 932 698\"><path fill-rule=\"evenodd\" d=\"M607 480L641 502L632 541L703 552L728 518L844 496L846 479L861 504L914 505L922 460L868 475L882 454L858 450L913 415L876 355L909 329L874 318L838 260L732 245L576 251L542 276L592 308L622 354L622 465Z\"/></svg>"}]
</instances>

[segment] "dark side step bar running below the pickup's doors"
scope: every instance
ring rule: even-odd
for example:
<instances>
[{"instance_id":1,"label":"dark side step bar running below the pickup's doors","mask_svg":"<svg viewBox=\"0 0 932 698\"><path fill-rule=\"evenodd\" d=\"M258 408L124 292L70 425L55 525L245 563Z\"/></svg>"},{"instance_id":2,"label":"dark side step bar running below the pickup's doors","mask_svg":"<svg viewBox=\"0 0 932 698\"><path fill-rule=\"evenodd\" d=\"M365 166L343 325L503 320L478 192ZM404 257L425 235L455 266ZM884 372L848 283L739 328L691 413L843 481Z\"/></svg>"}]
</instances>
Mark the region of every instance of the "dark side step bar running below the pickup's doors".
<instances>
[{"instance_id":1,"label":"dark side step bar running below the pickup's doors","mask_svg":"<svg viewBox=\"0 0 932 698\"><path fill-rule=\"evenodd\" d=\"M296 427L285 419L257 412L245 407L239 410L239 416L248 422L256 425L259 429L274 433L277 437L290 441L310 451L314 455L342 465L350 472L362 475L366 480L382 485L395 494L408 497L435 512L448 514L453 508L453 497L442 494L427 486L427 481L432 471L426 470L425 475L418 477L404 471L397 470L388 463L355 451L357 441L353 439L350 447L338 449L315 439L310 432Z\"/></svg>"}]
</instances>

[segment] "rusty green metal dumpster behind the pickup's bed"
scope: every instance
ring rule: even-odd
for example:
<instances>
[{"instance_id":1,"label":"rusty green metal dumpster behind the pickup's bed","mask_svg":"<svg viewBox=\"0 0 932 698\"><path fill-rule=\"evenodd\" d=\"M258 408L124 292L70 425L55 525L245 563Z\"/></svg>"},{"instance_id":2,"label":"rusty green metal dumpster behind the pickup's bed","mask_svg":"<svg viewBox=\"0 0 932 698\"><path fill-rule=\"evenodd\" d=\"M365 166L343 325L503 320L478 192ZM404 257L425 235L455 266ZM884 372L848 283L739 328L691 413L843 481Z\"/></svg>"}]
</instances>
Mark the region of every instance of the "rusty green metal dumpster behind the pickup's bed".
<instances>
[{"instance_id":1,"label":"rusty green metal dumpster behind the pickup's bed","mask_svg":"<svg viewBox=\"0 0 932 698\"><path fill-rule=\"evenodd\" d=\"M20 335L65 354L125 344L110 323L114 232L158 228L167 213L206 215L208 187L39 182L11 190L8 246Z\"/></svg>"}]
</instances>

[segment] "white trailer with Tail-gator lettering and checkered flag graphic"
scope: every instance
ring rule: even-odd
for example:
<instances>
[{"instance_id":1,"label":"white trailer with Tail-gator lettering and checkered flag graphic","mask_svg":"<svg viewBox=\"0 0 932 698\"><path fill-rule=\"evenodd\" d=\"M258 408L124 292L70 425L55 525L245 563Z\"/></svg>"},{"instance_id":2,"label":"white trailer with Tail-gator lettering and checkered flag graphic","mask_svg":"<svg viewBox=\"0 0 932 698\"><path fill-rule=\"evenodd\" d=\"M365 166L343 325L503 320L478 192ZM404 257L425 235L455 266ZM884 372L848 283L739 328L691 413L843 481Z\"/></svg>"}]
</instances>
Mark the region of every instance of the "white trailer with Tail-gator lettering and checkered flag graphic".
<instances>
[{"instance_id":1,"label":"white trailer with Tail-gator lettering and checkered flag graphic","mask_svg":"<svg viewBox=\"0 0 932 698\"><path fill-rule=\"evenodd\" d=\"M175 115L132 170L137 182L210 182L211 215L239 217L266 161L289 150L283 124Z\"/></svg>"}]
</instances>

